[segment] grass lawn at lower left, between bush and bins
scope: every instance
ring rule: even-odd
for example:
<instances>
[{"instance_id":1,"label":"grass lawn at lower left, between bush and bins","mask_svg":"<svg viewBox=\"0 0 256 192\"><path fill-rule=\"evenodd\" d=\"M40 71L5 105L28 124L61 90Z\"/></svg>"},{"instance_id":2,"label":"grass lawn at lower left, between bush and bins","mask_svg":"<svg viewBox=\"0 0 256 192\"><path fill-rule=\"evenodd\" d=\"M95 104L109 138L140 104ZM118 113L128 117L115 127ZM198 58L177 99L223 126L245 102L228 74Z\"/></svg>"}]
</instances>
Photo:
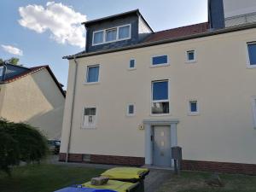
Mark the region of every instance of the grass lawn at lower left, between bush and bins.
<instances>
[{"instance_id":1,"label":"grass lawn at lower left, between bush and bins","mask_svg":"<svg viewBox=\"0 0 256 192\"><path fill-rule=\"evenodd\" d=\"M1 192L53 192L72 184L85 183L104 170L60 165L15 167L12 177L0 172Z\"/></svg>"}]
</instances>

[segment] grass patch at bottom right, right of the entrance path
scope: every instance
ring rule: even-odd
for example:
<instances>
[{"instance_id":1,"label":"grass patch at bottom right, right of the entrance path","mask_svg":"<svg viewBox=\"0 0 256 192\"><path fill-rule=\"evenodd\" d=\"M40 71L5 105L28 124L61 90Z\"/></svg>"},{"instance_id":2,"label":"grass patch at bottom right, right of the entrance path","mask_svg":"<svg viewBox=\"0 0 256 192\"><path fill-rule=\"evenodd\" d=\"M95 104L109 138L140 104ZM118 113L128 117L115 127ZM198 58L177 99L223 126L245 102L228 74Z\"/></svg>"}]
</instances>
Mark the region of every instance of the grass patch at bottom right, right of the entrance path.
<instances>
[{"instance_id":1,"label":"grass patch at bottom right, right of the entrance path","mask_svg":"<svg viewBox=\"0 0 256 192\"><path fill-rule=\"evenodd\" d=\"M205 183L210 172L182 172L173 175L158 192L255 192L256 176L219 174L224 187L210 187Z\"/></svg>"}]
</instances>

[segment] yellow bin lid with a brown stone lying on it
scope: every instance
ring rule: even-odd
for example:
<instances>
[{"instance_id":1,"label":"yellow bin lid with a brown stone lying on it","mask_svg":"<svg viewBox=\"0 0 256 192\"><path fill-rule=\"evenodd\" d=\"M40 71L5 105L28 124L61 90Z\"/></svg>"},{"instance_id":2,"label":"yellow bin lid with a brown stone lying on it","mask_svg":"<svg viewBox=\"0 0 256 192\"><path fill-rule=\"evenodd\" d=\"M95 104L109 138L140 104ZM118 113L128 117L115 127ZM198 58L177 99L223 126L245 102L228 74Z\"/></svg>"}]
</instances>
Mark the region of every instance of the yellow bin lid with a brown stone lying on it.
<instances>
[{"instance_id":1,"label":"yellow bin lid with a brown stone lying on it","mask_svg":"<svg viewBox=\"0 0 256 192\"><path fill-rule=\"evenodd\" d=\"M90 182L84 183L82 185L85 188L112 189L117 192L126 192L126 191L129 191L129 190L137 187L138 183L128 183L128 182L109 180L108 183L103 184L103 185L91 185Z\"/></svg>"}]
</instances>

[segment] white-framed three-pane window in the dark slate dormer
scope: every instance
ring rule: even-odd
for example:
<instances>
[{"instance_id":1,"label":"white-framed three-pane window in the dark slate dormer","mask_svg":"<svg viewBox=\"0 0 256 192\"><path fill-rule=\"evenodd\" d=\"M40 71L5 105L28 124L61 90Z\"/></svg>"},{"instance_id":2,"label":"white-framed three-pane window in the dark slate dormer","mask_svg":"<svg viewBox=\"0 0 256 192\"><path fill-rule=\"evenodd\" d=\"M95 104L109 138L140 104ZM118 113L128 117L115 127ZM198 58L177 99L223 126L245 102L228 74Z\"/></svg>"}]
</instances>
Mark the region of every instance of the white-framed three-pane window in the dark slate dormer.
<instances>
[{"instance_id":1,"label":"white-framed three-pane window in the dark slate dormer","mask_svg":"<svg viewBox=\"0 0 256 192\"><path fill-rule=\"evenodd\" d=\"M131 38L131 24L93 32L92 45L108 44Z\"/></svg>"}]
</instances>

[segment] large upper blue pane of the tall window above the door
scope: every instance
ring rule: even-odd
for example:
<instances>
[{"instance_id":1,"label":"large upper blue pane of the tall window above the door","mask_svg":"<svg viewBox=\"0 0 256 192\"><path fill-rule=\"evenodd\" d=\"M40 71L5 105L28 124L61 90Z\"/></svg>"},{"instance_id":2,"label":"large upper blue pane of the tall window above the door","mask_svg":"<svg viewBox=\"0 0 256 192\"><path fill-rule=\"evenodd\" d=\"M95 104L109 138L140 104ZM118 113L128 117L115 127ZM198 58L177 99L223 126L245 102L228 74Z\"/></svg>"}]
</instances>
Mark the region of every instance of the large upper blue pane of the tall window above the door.
<instances>
[{"instance_id":1,"label":"large upper blue pane of the tall window above the door","mask_svg":"<svg viewBox=\"0 0 256 192\"><path fill-rule=\"evenodd\" d=\"M168 100L168 81L153 82L153 101Z\"/></svg>"}]
</instances>

